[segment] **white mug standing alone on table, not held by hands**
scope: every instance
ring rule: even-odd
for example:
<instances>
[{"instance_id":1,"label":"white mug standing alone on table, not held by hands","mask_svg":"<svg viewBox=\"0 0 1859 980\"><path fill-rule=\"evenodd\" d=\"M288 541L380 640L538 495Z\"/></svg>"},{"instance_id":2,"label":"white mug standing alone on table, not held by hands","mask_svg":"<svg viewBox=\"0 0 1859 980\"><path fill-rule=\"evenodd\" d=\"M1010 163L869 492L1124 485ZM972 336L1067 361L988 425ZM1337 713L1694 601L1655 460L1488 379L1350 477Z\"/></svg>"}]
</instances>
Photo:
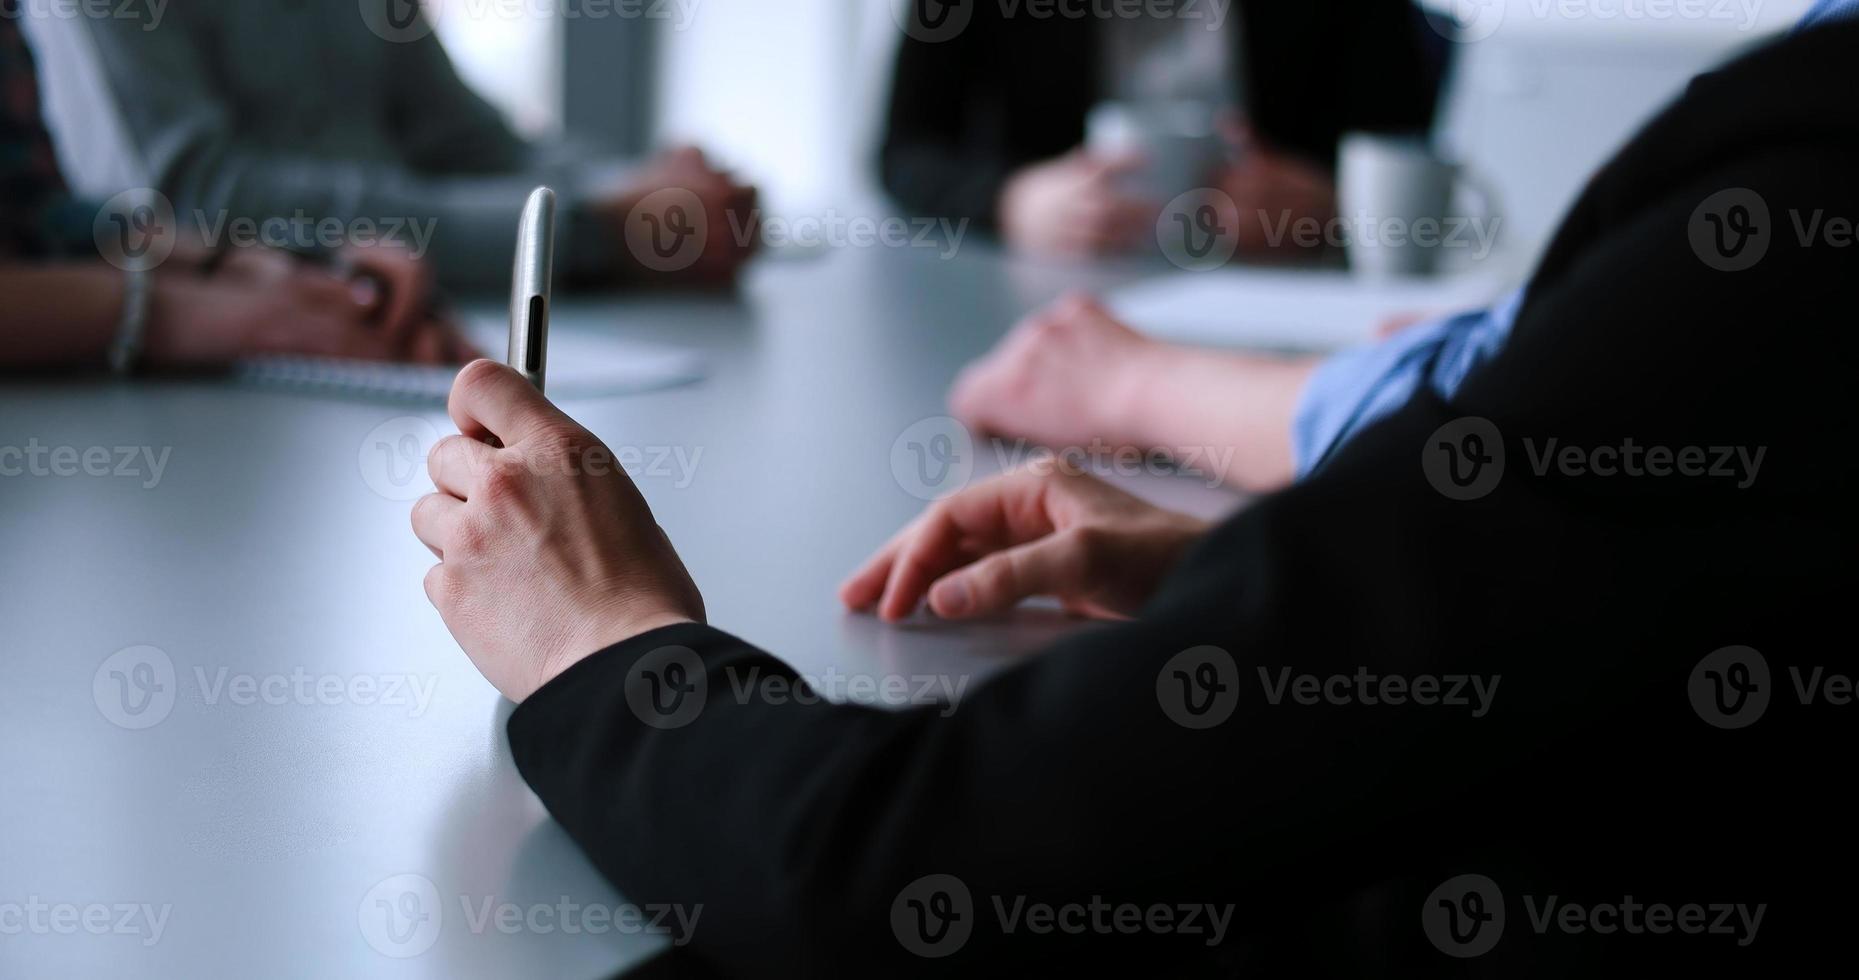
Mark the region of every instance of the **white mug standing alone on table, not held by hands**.
<instances>
[{"instance_id":1,"label":"white mug standing alone on table, not held by hands","mask_svg":"<svg viewBox=\"0 0 1859 980\"><path fill-rule=\"evenodd\" d=\"M1476 201L1470 214L1452 210L1459 192ZM1424 139L1379 134L1342 139L1337 212L1350 268L1366 277L1433 275L1448 251L1489 251L1502 223L1496 199L1465 167Z\"/></svg>"}]
</instances>

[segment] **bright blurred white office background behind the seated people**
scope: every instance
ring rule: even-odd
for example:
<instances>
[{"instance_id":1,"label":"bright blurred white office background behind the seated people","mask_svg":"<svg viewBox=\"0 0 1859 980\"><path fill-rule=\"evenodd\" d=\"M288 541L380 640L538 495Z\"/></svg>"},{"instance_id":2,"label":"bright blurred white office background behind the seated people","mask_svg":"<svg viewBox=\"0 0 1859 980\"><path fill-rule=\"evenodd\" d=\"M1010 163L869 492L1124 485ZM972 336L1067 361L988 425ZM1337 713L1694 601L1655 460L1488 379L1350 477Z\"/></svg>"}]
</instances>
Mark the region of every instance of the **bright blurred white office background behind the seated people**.
<instances>
[{"instance_id":1,"label":"bright blurred white office background behind the seated people","mask_svg":"<svg viewBox=\"0 0 1859 980\"><path fill-rule=\"evenodd\" d=\"M907 2L426 0L459 73L521 132L628 154L693 141L794 214L883 208L868 162L900 39L892 11ZM1526 244L1692 74L1811 6L1422 2L1467 24L1439 141L1493 186ZM73 93L97 86L86 41L56 22L32 30L67 173L91 193L145 184L115 123L74 112Z\"/></svg>"}]
</instances>

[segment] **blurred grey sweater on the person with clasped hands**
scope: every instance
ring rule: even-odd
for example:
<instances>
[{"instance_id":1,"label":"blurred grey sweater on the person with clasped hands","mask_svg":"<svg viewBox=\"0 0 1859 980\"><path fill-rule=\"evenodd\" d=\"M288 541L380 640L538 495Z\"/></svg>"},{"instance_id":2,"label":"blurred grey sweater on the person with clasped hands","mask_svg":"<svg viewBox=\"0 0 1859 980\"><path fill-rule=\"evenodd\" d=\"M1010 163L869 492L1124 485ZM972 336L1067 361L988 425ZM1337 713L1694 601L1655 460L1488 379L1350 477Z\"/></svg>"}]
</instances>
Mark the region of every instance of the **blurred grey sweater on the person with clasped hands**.
<instances>
[{"instance_id":1,"label":"blurred grey sweater on the person with clasped hands","mask_svg":"<svg viewBox=\"0 0 1859 980\"><path fill-rule=\"evenodd\" d=\"M424 24L396 30L385 11L407 0L364 4L381 13L355 0L177 0L156 30L87 20L143 173L182 221L212 236L273 219L273 232L314 245L333 219L342 236L428 247L450 286L500 286L522 199L548 182L567 205L565 271L610 268L578 162L511 132Z\"/></svg>"}]
</instances>

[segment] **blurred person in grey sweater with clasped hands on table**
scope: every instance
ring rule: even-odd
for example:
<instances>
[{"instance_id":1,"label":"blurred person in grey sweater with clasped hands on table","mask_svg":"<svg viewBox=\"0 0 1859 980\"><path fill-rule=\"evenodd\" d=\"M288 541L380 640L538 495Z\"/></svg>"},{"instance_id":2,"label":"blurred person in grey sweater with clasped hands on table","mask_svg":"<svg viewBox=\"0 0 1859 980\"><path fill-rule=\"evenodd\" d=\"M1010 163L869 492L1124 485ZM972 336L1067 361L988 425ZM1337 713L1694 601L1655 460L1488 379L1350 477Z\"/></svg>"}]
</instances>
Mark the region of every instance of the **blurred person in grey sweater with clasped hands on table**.
<instances>
[{"instance_id":1,"label":"blurred person in grey sweater with clasped hands on table","mask_svg":"<svg viewBox=\"0 0 1859 980\"><path fill-rule=\"evenodd\" d=\"M177 208L429 225L441 283L504 288L522 201L548 184L563 203L556 255L569 283L734 279L753 251L738 231L753 188L690 147L615 175L524 141L465 86L428 17L405 0L195 0L160 30L86 24L113 112ZM658 271L626 247L628 218L675 242L703 234L701 253Z\"/></svg>"}]
</instances>

